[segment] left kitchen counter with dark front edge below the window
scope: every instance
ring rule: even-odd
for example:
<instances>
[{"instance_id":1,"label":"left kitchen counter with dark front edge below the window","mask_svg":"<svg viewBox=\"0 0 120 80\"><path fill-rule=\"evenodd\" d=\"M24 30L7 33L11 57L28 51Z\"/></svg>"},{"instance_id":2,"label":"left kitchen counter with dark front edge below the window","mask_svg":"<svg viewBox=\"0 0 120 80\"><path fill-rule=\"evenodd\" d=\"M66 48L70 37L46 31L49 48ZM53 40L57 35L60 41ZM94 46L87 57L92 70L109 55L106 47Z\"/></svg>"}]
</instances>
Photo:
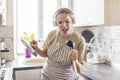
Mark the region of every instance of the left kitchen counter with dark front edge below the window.
<instances>
[{"instance_id":1,"label":"left kitchen counter with dark front edge below the window","mask_svg":"<svg viewBox=\"0 0 120 80\"><path fill-rule=\"evenodd\" d=\"M8 60L1 66L1 70L6 70L4 79L2 80L15 80L15 71L42 69L44 64L25 64L25 60L35 57L26 58L25 55L18 55L14 60ZM8 72L9 70L9 72ZM13 78L13 79L12 79ZM1 79L1 77L0 77Z\"/></svg>"}]
</instances>

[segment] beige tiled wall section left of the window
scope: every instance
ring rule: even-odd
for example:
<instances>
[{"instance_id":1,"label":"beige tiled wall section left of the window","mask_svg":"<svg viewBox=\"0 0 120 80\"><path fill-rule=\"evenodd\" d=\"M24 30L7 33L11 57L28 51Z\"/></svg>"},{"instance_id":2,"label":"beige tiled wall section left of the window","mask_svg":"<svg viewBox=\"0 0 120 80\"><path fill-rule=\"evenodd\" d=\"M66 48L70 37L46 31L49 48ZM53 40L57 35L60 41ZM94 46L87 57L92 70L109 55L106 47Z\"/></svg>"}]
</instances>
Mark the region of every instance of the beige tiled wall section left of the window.
<instances>
[{"instance_id":1,"label":"beige tiled wall section left of the window","mask_svg":"<svg viewBox=\"0 0 120 80\"><path fill-rule=\"evenodd\" d=\"M14 59L14 31L13 26L0 27L0 39L4 39L8 52L0 52L0 57L7 60Z\"/></svg>"}]
</instances>

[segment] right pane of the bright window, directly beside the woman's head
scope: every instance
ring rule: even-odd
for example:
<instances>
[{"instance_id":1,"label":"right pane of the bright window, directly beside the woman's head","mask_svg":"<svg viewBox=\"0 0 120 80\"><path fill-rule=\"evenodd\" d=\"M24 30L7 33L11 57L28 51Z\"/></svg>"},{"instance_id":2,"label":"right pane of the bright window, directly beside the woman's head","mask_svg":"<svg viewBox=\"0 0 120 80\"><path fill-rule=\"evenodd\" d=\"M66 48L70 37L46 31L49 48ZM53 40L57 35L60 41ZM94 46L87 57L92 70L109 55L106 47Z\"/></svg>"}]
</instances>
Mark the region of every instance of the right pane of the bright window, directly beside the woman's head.
<instances>
[{"instance_id":1,"label":"right pane of the bright window, directly beside the woman's head","mask_svg":"<svg viewBox=\"0 0 120 80\"><path fill-rule=\"evenodd\" d=\"M57 10L57 0L43 0L43 39L54 29L53 15Z\"/></svg>"}]
</instances>

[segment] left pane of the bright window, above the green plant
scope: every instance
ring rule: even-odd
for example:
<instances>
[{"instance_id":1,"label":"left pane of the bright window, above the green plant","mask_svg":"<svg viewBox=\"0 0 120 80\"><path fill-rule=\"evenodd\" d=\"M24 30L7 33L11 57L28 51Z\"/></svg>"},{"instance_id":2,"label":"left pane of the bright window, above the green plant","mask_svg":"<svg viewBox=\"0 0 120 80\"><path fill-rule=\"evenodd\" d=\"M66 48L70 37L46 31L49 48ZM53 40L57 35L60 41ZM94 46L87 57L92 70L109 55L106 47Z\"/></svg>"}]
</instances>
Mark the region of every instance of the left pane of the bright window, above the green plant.
<instances>
[{"instance_id":1,"label":"left pane of the bright window, above the green plant","mask_svg":"<svg viewBox=\"0 0 120 80\"><path fill-rule=\"evenodd\" d=\"M16 4L16 49L23 53L24 47L20 41L23 32L38 34L38 1L17 0Z\"/></svg>"}]
</instances>

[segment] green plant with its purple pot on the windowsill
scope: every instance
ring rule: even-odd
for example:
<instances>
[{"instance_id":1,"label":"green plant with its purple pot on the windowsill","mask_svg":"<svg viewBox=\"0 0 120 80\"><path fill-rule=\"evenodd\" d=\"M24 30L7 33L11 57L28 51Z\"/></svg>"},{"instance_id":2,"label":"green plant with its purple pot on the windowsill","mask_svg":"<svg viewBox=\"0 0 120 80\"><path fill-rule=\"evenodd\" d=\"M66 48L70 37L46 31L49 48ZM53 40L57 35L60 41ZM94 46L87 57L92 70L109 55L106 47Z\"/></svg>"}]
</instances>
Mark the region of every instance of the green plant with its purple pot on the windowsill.
<instances>
[{"instance_id":1,"label":"green plant with its purple pot on the windowsill","mask_svg":"<svg viewBox=\"0 0 120 80\"><path fill-rule=\"evenodd\" d=\"M30 41L35 39L35 34L23 32L23 35L21 36L21 39L26 41L27 43L30 43ZM25 56L26 57L31 57L31 51L28 48L25 48Z\"/></svg>"}]
</instances>

